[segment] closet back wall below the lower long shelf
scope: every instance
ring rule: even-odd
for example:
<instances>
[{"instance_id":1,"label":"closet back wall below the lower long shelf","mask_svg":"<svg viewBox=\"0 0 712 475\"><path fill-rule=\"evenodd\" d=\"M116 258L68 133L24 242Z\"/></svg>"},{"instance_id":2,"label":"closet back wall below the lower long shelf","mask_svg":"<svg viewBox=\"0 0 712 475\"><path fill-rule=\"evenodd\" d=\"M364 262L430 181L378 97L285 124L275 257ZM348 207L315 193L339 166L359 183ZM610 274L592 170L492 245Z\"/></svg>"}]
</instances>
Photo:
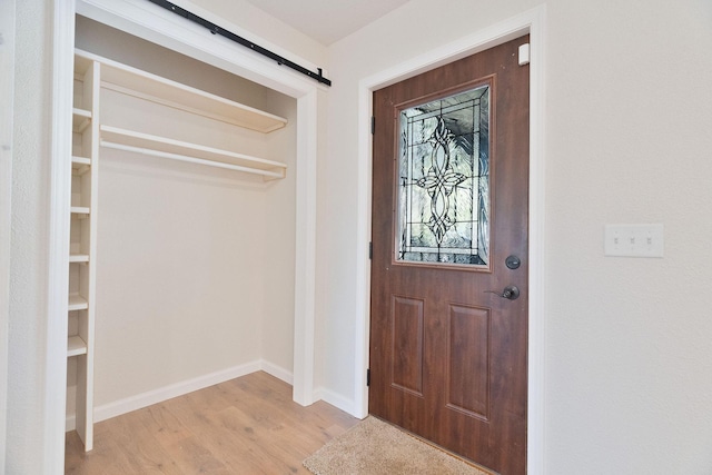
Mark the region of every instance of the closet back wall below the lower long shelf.
<instances>
[{"instance_id":1,"label":"closet back wall below the lower long shelf","mask_svg":"<svg viewBox=\"0 0 712 475\"><path fill-rule=\"evenodd\" d=\"M197 168L102 152L97 406L261 357L265 190Z\"/></svg>"}]
</instances>

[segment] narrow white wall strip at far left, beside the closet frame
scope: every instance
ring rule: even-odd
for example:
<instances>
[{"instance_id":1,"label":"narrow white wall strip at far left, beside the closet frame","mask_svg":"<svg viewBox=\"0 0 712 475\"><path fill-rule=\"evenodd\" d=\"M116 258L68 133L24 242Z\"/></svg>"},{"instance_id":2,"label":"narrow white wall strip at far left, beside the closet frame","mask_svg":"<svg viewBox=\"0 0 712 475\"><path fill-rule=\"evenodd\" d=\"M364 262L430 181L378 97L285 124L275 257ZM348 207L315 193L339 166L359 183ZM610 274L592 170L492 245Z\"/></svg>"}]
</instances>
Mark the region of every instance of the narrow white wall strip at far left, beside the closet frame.
<instances>
[{"instance_id":1,"label":"narrow white wall strip at far left, beside the closet frame","mask_svg":"<svg viewBox=\"0 0 712 475\"><path fill-rule=\"evenodd\" d=\"M44 473L51 2L16 2L10 317L4 471Z\"/></svg>"}]
</instances>

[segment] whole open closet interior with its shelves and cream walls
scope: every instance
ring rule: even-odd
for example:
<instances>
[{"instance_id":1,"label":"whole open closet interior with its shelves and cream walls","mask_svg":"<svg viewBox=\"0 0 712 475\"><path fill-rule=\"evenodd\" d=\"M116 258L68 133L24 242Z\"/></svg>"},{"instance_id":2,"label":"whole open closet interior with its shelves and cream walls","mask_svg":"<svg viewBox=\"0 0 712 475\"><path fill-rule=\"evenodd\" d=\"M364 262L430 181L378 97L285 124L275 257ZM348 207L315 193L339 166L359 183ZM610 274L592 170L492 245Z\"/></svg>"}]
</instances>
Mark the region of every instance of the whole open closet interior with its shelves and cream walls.
<instances>
[{"instance_id":1,"label":"whole open closet interior with its shelves and cream walls","mask_svg":"<svg viewBox=\"0 0 712 475\"><path fill-rule=\"evenodd\" d=\"M76 31L67 429L90 451L95 419L206 375L289 379L296 100Z\"/></svg>"}]
</instances>

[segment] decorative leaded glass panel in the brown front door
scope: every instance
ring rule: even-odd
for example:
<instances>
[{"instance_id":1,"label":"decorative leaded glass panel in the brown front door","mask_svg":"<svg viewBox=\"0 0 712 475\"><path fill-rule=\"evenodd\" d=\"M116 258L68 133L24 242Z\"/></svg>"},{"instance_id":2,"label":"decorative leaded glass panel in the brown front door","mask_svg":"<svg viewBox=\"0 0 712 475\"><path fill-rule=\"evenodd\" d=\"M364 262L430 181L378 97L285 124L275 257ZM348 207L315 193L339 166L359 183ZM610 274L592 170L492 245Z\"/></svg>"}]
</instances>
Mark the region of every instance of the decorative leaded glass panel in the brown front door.
<instances>
[{"instance_id":1,"label":"decorative leaded glass panel in the brown front door","mask_svg":"<svg viewBox=\"0 0 712 475\"><path fill-rule=\"evenodd\" d=\"M397 256L486 265L490 86L400 112Z\"/></svg>"}]
</instances>

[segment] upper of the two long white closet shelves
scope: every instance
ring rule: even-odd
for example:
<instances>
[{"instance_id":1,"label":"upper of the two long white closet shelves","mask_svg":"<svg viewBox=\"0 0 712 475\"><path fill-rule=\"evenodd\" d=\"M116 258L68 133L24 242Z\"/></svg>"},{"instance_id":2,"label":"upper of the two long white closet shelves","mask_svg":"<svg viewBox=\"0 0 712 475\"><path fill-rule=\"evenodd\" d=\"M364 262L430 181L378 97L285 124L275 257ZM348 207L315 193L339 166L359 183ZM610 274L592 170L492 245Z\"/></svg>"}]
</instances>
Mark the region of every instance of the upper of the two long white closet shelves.
<instances>
[{"instance_id":1,"label":"upper of the two long white closet shelves","mask_svg":"<svg viewBox=\"0 0 712 475\"><path fill-rule=\"evenodd\" d=\"M88 60L101 62L101 86L107 89L265 133L281 129L287 125L287 119L284 117L90 52L76 50L76 57L79 65L83 65Z\"/></svg>"}]
</instances>

